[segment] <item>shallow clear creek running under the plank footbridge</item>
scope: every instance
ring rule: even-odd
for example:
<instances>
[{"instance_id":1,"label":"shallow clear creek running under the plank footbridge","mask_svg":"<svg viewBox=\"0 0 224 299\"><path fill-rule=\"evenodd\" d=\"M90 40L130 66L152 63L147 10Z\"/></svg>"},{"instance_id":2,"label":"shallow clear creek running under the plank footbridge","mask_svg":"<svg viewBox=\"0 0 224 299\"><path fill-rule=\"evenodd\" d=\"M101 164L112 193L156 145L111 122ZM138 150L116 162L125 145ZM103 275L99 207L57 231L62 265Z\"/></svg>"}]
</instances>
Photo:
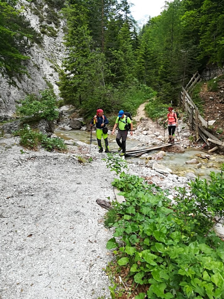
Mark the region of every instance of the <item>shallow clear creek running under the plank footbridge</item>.
<instances>
[{"instance_id":1,"label":"shallow clear creek running under the plank footbridge","mask_svg":"<svg viewBox=\"0 0 224 299\"><path fill-rule=\"evenodd\" d=\"M69 139L77 139L79 141L90 144L90 132L82 131L82 130L58 130L56 129L54 132L58 137L61 137L65 140ZM109 147L110 151L117 151L117 143L115 141L116 135L109 135ZM103 140L102 140L103 142ZM92 133L92 144L97 145L96 134ZM103 144L103 143L102 143ZM145 147L140 146L140 142L134 139L128 139L126 141L127 150L132 149L143 149ZM155 155L157 151L152 151L148 153L149 156ZM209 154L211 156L210 159L203 159L197 157L197 154L205 155ZM195 164L186 164L185 162L196 158L198 163L202 163L200 168L197 168ZM147 157L127 157L132 161L139 161L139 159L147 159ZM185 176L188 172L193 172L196 176L200 176L202 178L208 178L210 171L219 171L220 165L224 163L224 156L218 154L210 154L207 152L203 152L199 149L194 148L186 148L184 153L172 153L166 152L165 156L161 160L156 160L157 163L163 164L164 166L170 168L174 174L179 176Z\"/></svg>"}]
</instances>

